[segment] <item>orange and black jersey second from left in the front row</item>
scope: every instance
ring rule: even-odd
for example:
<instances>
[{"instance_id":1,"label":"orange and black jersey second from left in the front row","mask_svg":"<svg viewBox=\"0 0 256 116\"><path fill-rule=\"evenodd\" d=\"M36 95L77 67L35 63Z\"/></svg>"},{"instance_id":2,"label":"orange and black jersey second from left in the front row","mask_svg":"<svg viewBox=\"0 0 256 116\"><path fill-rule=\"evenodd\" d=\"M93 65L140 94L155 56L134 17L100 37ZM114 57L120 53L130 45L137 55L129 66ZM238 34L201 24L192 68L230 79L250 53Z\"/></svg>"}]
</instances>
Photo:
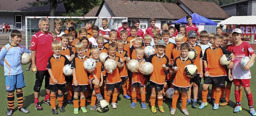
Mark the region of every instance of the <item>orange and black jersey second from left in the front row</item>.
<instances>
[{"instance_id":1,"label":"orange and black jersey second from left in the front row","mask_svg":"<svg viewBox=\"0 0 256 116\"><path fill-rule=\"evenodd\" d=\"M73 58L72 60L71 68L76 69L76 80L78 82L78 85L88 85L88 74L87 71L84 69L84 61L87 58L88 57L86 57L85 55L84 57L79 57L78 55L76 55L75 58Z\"/></svg>"}]
</instances>

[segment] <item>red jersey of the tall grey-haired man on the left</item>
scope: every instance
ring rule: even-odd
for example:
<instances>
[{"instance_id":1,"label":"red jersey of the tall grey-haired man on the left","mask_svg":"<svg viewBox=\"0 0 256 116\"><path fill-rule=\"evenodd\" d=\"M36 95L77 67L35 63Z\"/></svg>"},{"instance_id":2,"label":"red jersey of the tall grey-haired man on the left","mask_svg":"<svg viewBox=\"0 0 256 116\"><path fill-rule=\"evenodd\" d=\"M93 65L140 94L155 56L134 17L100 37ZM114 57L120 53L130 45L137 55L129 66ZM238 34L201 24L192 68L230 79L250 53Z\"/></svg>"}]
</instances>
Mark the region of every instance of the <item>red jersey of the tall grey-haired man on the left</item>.
<instances>
[{"instance_id":1,"label":"red jersey of the tall grey-haired man on the left","mask_svg":"<svg viewBox=\"0 0 256 116\"><path fill-rule=\"evenodd\" d=\"M47 62L52 56L52 34L50 32L42 33L41 31L34 34L31 38L30 49L36 51L36 68L37 70L47 70Z\"/></svg>"}]
</instances>

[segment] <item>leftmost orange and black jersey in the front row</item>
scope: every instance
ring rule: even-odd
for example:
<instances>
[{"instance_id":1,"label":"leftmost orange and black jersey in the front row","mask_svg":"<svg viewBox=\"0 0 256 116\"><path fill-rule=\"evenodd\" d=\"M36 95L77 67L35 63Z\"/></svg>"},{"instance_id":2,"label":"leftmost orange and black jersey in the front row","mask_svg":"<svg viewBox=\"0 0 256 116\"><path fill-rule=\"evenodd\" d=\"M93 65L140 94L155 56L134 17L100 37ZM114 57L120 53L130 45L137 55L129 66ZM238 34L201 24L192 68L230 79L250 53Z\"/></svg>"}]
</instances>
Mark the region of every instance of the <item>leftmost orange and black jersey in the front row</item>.
<instances>
[{"instance_id":1,"label":"leftmost orange and black jersey in the front row","mask_svg":"<svg viewBox=\"0 0 256 116\"><path fill-rule=\"evenodd\" d=\"M52 70L52 74L56 80L58 80L58 84L65 84L65 77L63 74L63 67L66 64L70 64L68 58L64 55L60 55L59 57L55 57L54 55L50 56L47 68ZM53 84L52 78L50 77L50 84Z\"/></svg>"}]
</instances>

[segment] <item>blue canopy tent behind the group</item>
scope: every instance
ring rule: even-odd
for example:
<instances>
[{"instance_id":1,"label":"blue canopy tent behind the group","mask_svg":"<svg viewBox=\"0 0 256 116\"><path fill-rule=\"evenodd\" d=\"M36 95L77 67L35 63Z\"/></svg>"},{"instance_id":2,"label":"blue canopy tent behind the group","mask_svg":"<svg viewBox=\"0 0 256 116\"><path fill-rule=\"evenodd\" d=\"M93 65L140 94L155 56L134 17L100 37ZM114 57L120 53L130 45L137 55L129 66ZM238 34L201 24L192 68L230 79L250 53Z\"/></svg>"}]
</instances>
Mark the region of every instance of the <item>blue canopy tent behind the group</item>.
<instances>
[{"instance_id":1,"label":"blue canopy tent behind the group","mask_svg":"<svg viewBox=\"0 0 256 116\"><path fill-rule=\"evenodd\" d=\"M192 23L196 25L215 25L216 26L218 24L196 13L191 14L191 16L192 16ZM175 22L172 22L172 24L187 24L187 23L188 22L186 20L186 17L181 18Z\"/></svg>"}]
</instances>

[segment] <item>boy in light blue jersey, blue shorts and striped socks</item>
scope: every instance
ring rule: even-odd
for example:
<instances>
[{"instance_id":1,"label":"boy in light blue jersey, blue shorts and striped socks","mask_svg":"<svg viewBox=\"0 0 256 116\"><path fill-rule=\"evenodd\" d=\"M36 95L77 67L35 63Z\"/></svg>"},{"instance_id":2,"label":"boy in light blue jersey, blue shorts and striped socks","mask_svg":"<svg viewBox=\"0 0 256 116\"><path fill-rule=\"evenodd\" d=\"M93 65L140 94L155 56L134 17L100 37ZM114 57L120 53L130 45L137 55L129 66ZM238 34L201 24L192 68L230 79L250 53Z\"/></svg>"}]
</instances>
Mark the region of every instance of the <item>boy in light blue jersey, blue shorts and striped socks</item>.
<instances>
[{"instance_id":1,"label":"boy in light blue jersey, blue shorts and striped socks","mask_svg":"<svg viewBox=\"0 0 256 116\"><path fill-rule=\"evenodd\" d=\"M5 86L8 100L8 108L6 115L12 115L14 110L14 91L18 99L18 109L21 112L28 113L29 111L23 106L23 92L25 87L23 70L21 66L21 54L31 52L20 44L22 34L18 30L13 30L11 33L12 42L6 44L0 52L0 65L4 66Z\"/></svg>"}]
</instances>

